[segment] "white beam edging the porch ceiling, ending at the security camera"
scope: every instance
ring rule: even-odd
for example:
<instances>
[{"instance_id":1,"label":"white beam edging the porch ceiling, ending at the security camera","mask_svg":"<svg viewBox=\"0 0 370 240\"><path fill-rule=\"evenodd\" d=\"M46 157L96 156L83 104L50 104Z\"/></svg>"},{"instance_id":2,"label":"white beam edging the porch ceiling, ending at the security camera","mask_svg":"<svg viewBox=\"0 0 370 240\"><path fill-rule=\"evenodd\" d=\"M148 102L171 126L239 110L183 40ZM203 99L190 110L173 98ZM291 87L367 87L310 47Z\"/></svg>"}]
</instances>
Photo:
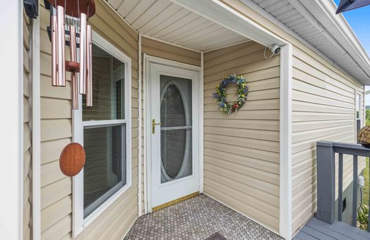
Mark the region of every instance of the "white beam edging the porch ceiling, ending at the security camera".
<instances>
[{"instance_id":1,"label":"white beam edging the porch ceiling, ending at the security camera","mask_svg":"<svg viewBox=\"0 0 370 240\"><path fill-rule=\"evenodd\" d=\"M254 23L243 14L236 12L218 0L170 0L183 8L195 12L227 29L245 36L256 43L272 47L274 44L286 45L286 41Z\"/></svg>"}]
</instances>

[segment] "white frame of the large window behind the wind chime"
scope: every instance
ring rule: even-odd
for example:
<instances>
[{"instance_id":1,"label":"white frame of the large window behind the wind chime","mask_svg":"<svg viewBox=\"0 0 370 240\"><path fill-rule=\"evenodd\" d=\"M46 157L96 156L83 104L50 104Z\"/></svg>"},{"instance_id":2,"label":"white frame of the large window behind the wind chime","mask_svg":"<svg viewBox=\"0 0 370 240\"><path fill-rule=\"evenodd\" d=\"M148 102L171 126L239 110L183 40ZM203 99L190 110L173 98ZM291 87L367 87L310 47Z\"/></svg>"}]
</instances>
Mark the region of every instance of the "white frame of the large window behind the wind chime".
<instances>
[{"instance_id":1,"label":"white frame of the large window behind the wind chime","mask_svg":"<svg viewBox=\"0 0 370 240\"><path fill-rule=\"evenodd\" d=\"M116 191L106 202L103 202L93 213L90 213L84 218L84 170L73 177L73 237L77 237L86 226L90 225L101 213L115 202L127 189L132 186L132 141L131 141L131 58L125 55L120 49L114 47L112 43L104 39L102 36L93 32L93 43L110 53L112 56L125 63L125 119L124 120L109 120L109 121L82 121L82 95L79 95L79 109L73 110L73 142L84 145L84 127L109 124L125 123L126 134L126 184Z\"/></svg>"}]
</instances>

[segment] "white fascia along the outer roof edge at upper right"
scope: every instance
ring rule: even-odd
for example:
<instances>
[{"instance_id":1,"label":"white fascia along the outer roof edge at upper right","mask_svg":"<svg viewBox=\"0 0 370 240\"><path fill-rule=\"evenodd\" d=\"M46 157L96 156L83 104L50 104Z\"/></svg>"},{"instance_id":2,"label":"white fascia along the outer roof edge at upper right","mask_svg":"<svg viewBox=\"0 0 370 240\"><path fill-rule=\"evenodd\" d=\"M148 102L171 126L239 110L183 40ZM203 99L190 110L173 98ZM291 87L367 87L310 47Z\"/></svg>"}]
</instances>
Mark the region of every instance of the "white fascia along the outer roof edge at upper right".
<instances>
[{"instance_id":1,"label":"white fascia along the outer roof edge at upper right","mask_svg":"<svg viewBox=\"0 0 370 240\"><path fill-rule=\"evenodd\" d=\"M335 14L336 5L334 1L327 0L314 0L314 1L302 1L302 0L289 0L290 2L299 2L304 5L307 12L318 22L317 27L321 27L321 30L328 36L332 36L336 42L343 48L345 53L358 64L360 69L364 72L364 78L358 79L363 84L370 84L370 60L365 49L362 47L360 41L354 34L351 27L349 27L347 21L342 14ZM304 14L301 12L304 16ZM306 17L306 16L305 16ZM308 18L310 16L307 16ZM319 28L320 29L320 28Z\"/></svg>"}]
</instances>

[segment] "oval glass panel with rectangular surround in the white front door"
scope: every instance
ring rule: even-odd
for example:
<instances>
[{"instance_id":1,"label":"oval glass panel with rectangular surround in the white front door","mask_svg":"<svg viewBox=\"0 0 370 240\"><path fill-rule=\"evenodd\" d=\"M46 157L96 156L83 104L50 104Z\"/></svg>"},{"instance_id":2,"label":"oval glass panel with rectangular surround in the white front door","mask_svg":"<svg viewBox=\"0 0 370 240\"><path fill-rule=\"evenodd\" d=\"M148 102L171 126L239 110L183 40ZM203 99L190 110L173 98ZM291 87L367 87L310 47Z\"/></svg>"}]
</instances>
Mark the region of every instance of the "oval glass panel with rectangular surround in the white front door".
<instances>
[{"instance_id":1,"label":"oval glass panel with rectangular surround in the white front door","mask_svg":"<svg viewBox=\"0 0 370 240\"><path fill-rule=\"evenodd\" d=\"M190 176L192 163L191 80L160 75L161 182Z\"/></svg>"}]
</instances>

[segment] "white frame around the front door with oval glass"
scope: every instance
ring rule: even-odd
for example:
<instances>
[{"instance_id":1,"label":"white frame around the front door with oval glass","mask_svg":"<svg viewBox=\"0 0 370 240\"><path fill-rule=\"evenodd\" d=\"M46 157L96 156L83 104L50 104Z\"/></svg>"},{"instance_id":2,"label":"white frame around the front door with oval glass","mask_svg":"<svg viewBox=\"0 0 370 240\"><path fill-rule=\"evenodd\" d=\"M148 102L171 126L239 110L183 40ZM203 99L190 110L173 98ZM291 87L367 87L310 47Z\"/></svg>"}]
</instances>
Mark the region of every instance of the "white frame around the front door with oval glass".
<instances>
[{"instance_id":1,"label":"white frame around the front door with oval glass","mask_svg":"<svg viewBox=\"0 0 370 240\"><path fill-rule=\"evenodd\" d=\"M182 62L176 62L173 60L167 60L164 58L158 58L155 56L148 56L144 54L143 58L143 86L145 86L144 93L143 95L145 96L144 99L144 111L145 111L145 117L144 117L144 139L145 139L145 146L144 146L144 151L145 151L145 156L146 159L144 160L144 163L146 166L144 166L144 204L145 204L145 213L151 213L152 211L152 204L151 204L151 112L150 108L147 106L150 106L150 64L151 63L156 63L156 64L162 64L170 67L178 67L180 69L186 69L186 70L192 70L192 71L197 71L199 73L199 116L198 116L198 124L199 124L199 149L203 149L203 97L204 97L204 92L203 92L203 76L201 75L201 67L193 66L190 64L185 64ZM201 156L201 152L199 151L199 191L203 189L203 176L200 173L201 172L201 167L203 166L203 156Z\"/></svg>"}]
</instances>

